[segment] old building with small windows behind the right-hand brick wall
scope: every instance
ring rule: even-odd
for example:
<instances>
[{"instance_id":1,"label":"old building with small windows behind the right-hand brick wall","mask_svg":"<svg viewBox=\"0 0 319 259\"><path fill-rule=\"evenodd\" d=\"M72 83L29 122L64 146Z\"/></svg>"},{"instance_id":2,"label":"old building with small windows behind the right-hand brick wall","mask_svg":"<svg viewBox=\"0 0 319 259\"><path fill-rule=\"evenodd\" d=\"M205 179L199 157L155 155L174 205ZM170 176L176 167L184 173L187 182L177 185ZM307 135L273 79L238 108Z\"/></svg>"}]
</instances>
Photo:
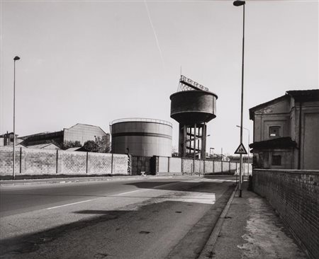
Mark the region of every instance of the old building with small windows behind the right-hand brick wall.
<instances>
[{"instance_id":1,"label":"old building with small windows behind the right-hand brick wall","mask_svg":"<svg viewBox=\"0 0 319 259\"><path fill-rule=\"evenodd\" d=\"M254 167L319 169L319 90L287 91L250 108Z\"/></svg>"}]
</instances>

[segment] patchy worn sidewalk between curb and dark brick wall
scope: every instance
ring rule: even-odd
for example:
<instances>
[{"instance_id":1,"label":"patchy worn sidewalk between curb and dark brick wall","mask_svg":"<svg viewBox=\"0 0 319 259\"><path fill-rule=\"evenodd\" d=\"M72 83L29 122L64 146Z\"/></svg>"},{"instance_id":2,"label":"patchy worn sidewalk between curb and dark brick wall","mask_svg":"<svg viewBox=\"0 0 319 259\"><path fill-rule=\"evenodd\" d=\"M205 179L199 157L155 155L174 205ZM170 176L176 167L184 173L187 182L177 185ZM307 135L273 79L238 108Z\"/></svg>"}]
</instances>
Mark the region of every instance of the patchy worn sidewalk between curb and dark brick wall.
<instances>
[{"instance_id":1,"label":"patchy worn sidewalk between curb and dark brick wall","mask_svg":"<svg viewBox=\"0 0 319 259\"><path fill-rule=\"evenodd\" d=\"M238 197L237 190L227 214L220 220L220 231L216 233L214 229L200 259L306 258L267 200L247 191L247 182L242 197Z\"/></svg>"}]
</instances>

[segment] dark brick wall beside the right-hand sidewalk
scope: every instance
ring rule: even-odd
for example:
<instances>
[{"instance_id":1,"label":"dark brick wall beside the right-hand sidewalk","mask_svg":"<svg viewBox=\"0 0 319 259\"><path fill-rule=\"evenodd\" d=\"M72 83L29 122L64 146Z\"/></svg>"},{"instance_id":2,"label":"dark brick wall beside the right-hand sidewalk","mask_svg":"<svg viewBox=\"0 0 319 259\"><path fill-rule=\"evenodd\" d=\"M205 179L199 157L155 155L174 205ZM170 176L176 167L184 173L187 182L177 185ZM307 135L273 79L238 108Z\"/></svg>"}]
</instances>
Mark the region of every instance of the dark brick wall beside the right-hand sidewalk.
<instances>
[{"instance_id":1,"label":"dark brick wall beside the right-hand sidewalk","mask_svg":"<svg viewBox=\"0 0 319 259\"><path fill-rule=\"evenodd\" d=\"M319 171L254 169L254 192L266 197L310 258L319 258Z\"/></svg>"}]
</instances>

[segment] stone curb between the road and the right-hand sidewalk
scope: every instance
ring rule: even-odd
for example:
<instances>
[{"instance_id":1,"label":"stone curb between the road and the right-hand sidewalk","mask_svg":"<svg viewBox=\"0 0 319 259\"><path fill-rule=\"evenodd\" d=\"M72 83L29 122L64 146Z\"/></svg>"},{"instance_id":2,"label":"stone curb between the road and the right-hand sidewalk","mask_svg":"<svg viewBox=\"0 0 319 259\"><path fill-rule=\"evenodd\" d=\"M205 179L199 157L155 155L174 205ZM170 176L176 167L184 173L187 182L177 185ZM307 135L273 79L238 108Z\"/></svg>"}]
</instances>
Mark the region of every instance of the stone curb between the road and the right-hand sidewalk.
<instances>
[{"instance_id":1,"label":"stone curb between the road and the right-hand sidewalk","mask_svg":"<svg viewBox=\"0 0 319 259\"><path fill-rule=\"evenodd\" d=\"M208 241L206 245L204 246L203 250L201 251L201 254L198 256L198 259L207 259L212 258L212 251L213 247L215 246L215 243L217 241L218 235L220 234L220 230L223 226L225 217L228 213L228 210L230 208L231 203L233 202L233 199L235 197L235 193L237 192L238 185L236 185L235 190L233 191L232 195L230 196L225 208L223 209L223 212L220 214L220 217L218 221L216 222L216 225L211 232L211 236L208 238Z\"/></svg>"}]
</instances>

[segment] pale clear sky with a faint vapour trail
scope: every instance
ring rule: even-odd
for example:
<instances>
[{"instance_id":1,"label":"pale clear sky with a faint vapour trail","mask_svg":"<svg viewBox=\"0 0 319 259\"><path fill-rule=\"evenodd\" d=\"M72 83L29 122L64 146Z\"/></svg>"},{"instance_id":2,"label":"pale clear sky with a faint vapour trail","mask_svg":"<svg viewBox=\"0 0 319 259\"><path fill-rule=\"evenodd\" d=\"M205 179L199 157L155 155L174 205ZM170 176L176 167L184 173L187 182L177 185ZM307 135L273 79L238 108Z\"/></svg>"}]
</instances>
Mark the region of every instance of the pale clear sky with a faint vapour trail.
<instances>
[{"instance_id":1,"label":"pale clear sky with a faint vapour trail","mask_svg":"<svg viewBox=\"0 0 319 259\"><path fill-rule=\"evenodd\" d=\"M1 1L0 133L54 132L125 117L178 123L180 73L218 95L207 151L240 144L242 7L233 1ZM243 127L249 108L319 84L318 1L247 0ZM248 131L243 142L247 145Z\"/></svg>"}]
</instances>

